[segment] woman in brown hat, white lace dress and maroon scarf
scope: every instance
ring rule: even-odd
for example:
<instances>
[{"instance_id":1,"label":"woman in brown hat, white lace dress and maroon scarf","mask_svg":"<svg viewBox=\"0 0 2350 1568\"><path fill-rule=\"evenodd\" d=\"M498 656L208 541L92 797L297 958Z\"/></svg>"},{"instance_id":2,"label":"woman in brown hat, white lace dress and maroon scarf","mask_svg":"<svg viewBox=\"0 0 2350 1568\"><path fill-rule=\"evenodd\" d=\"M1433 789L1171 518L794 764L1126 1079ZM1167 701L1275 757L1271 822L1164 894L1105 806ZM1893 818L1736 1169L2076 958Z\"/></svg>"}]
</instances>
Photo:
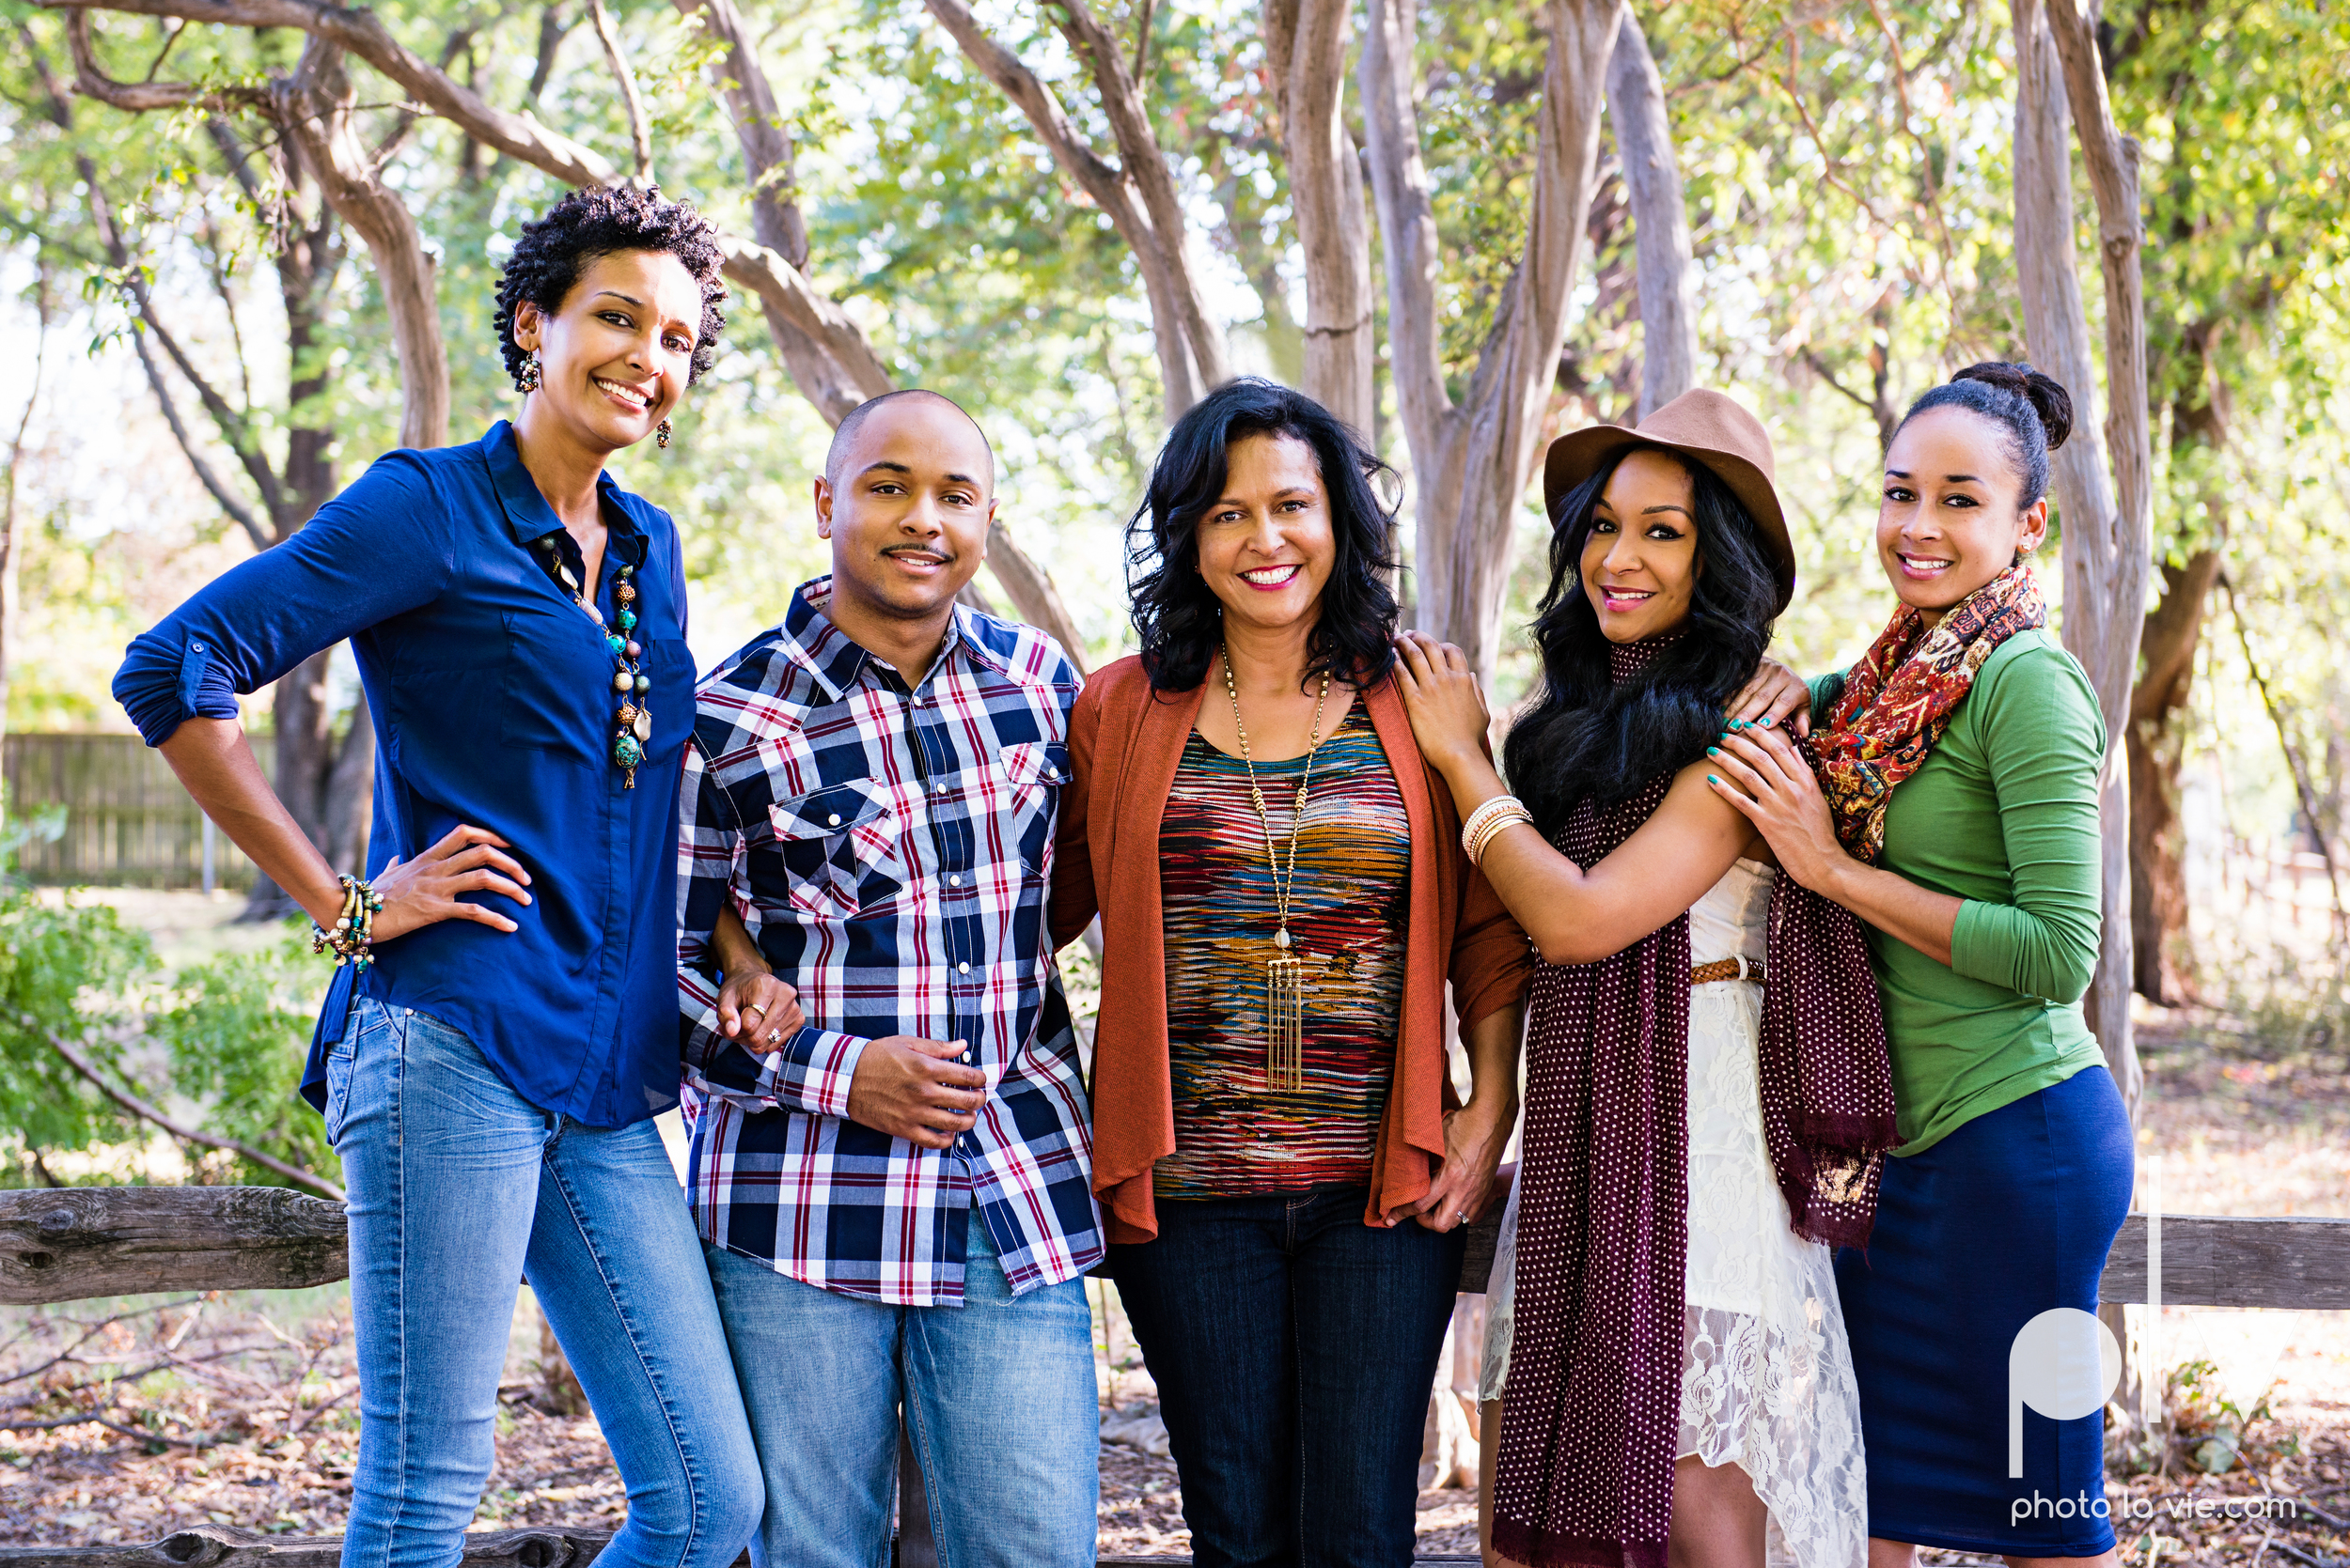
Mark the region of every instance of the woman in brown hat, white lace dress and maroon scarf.
<instances>
[{"instance_id":1,"label":"woman in brown hat, white lace dress and maroon scarf","mask_svg":"<svg viewBox=\"0 0 2350 1568\"><path fill-rule=\"evenodd\" d=\"M1831 1244L1894 1141L1868 953L1706 784L1795 561L1718 392L1551 446L1544 685L1504 746L1459 650L1398 638L1422 756L1542 953L1488 1293L1485 1542L1518 1563L1866 1563ZM1492 1441L1495 1425L1480 1427Z\"/></svg>"}]
</instances>

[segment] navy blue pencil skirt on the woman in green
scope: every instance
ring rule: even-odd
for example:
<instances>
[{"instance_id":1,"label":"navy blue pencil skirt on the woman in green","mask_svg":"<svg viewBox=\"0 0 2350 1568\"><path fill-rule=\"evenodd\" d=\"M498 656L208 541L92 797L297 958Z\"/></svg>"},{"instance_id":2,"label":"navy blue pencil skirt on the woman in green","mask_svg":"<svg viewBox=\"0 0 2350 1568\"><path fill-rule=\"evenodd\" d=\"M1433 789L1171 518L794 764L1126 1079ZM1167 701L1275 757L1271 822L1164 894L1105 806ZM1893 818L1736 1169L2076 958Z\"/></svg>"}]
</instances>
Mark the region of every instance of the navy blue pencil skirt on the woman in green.
<instances>
[{"instance_id":1,"label":"navy blue pencil skirt on the woman in green","mask_svg":"<svg viewBox=\"0 0 2350 1568\"><path fill-rule=\"evenodd\" d=\"M2023 1474L2009 1474L2009 1350L2052 1307L2096 1310L2131 1169L2103 1066L1885 1162L1868 1251L1835 1256L1871 1535L1995 1556L2113 1549L2101 1413L2059 1422L2026 1406Z\"/></svg>"}]
</instances>

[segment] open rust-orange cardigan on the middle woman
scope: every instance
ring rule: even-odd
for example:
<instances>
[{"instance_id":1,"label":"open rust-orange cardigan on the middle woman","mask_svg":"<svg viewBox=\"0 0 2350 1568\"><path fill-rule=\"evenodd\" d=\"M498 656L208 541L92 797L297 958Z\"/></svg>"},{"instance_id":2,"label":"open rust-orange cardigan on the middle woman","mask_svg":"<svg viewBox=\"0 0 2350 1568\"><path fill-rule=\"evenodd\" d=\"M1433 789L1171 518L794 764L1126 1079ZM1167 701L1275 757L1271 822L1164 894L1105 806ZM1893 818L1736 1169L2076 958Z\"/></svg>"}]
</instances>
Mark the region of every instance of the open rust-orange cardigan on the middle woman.
<instances>
[{"instance_id":1,"label":"open rust-orange cardigan on the middle woman","mask_svg":"<svg viewBox=\"0 0 2350 1568\"><path fill-rule=\"evenodd\" d=\"M1102 915L1102 1014L1093 1035L1093 1190L1112 1242L1159 1235L1152 1167L1175 1153L1168 1073L1159 824L1206 685L1152 692L1142 660L1086 681L1069 716L1072 779L1053 859L1055 951ZM1452 793L1419 761L1394 678L1361 695L1396 772L1412 836L1396 1080L1370 1167L1365 1225L1417 1202L1445 1157L1445 979L1462 1028L1525 998L1532 951L1459 847Z\"/></svg>"}]
</instances>

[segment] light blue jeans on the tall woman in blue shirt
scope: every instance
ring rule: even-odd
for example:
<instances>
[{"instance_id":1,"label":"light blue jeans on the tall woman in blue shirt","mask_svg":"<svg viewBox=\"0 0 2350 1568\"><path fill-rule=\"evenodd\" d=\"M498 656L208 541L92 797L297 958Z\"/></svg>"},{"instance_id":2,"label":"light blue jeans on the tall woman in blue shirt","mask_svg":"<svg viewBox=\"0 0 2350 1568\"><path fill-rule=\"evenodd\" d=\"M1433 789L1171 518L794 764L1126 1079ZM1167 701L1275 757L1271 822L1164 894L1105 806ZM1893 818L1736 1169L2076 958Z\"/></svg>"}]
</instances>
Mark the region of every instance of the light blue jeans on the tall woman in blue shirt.
<instances>
[{"instance_id":1,"label":"light blue jeans on the tall woman in blue shirt","mask_svg":"<svg viewBox=\"0 0 2350 1568\"><path fill-rule=\"evenodd\" d=\"M613 1568L726 1568L759 1465L700 1242L651 1122L517 1096L439 1019L360 998L327 1056L350 1190L360 1465L343 1568L454 1568L529 1279L627 1486Z\"/></svg>"}]
</instances>

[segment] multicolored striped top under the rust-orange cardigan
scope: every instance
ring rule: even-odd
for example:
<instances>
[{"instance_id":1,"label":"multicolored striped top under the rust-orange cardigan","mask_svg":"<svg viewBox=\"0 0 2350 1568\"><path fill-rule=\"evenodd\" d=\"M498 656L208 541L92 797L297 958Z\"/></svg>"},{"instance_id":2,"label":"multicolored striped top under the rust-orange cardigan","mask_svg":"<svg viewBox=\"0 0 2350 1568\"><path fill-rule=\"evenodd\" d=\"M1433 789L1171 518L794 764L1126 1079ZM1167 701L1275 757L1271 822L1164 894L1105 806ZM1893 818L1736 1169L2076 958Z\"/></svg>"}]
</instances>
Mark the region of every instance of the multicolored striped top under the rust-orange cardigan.
<instances>
[{"instance_id":1,"label":"multicolored striped top under the rust-orange cardigan","mask_svg":"<svg viewBox=\"0 0 2350 1568\"><path fill-rule=\"evenodd\" d=\"M1274 843L1290 852L1304 758L1257 763ZM1175 1153L1159 1197L1241 1197L1370 1183L1396 1075L1412 838L1403 793L1356 702L1314 756L1290 951L1304 958L1304 1084L1267 1089L1264 962L1276 955L1274 873L1248 768L1198 732L1159 826Z\"/></svg>"}]
</instances>

